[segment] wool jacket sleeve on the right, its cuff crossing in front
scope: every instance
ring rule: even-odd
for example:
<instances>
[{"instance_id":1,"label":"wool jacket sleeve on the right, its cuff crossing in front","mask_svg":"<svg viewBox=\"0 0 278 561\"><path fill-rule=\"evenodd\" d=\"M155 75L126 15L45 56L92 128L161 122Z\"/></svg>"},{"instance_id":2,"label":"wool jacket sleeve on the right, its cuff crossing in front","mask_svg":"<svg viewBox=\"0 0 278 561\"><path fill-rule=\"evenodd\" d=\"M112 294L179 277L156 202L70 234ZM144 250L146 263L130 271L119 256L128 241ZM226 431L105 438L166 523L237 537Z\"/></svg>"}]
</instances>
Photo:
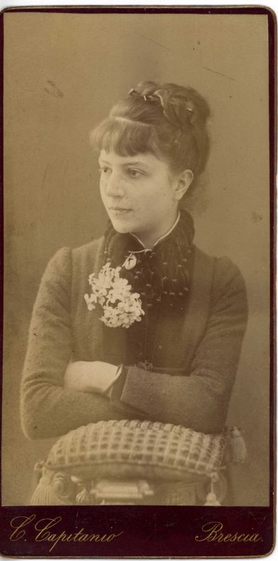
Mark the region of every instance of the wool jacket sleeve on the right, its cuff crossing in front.
<instances>
[{"instance_id":1,"label":"wool jacket sleeve on the right, its cuff crossing in front","mask_svg":"<svg viewBox=\"0 0 278 561\"><path fill-rule=\"evenodd\" d=\"M238 267L226 257L215 261L210 315L190 370L178 375L126 367L114 385L114 407L136 407L147 418L204 433L223 429L247 324L247 296Z\"/></svg>"}]
</instances>

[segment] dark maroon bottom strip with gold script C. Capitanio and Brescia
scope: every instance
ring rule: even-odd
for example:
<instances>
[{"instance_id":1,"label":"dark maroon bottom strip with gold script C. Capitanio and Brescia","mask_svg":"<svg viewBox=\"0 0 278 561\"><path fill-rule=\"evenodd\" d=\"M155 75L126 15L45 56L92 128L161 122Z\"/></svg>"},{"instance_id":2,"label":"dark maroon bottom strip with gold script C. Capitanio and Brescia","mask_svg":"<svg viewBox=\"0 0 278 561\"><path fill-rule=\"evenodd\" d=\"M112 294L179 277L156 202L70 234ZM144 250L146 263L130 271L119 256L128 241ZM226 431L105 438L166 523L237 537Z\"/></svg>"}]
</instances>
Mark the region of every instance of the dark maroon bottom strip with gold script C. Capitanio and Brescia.
<instances>
[{"instance_id":1,"label":"dark maroon bottom strip with gold script C. Capitanio and Brescia","mask_svg":"<svg viewBox=\"0 0 278 561\"><path fill-rule=\"evenodd\" d=\"M78 510L78 517L77 517ZM56 533L77 532L84 527L88 534L113 532L121 536L108 542L59 542L52 553L52 543L35 541L33 527L26 526L21 540L10 541L10 521L14 516L36 514L41 518L61 516ZM254 542L198 542L206 522L220 521L227 534L259 533L262 540ZM53 532L55 528L53 527ZM26 539L26 541L25 541ZM2 507L1 553L6 556L35 558L196 558L257 557L273 547L273 515L271 508L247 507L174 507L174 506L97 506L97 507Z\"/></svg>"}]
</instances>

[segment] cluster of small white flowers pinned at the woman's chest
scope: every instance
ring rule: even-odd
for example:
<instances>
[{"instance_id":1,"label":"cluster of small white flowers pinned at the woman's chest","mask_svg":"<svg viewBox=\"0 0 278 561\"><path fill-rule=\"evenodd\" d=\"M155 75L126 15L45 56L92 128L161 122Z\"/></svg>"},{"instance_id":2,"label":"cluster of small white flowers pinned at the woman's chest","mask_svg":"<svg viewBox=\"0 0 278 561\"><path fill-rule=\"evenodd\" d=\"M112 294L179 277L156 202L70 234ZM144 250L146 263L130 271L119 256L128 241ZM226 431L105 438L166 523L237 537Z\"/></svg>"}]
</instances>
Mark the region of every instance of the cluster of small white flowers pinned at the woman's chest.
<instances>
[{"instance_id":1,"label":"cluster of small white flowers pinned at the woman's chest","mask_svg":"<svg viewBox=\"0 0 278 561\"><path fill-rule=\"evenodd\" d=\"M93 310L96 304L103 308L101 321L108 327L125 327L134 322L140 322L144 310L140 294L131 292L131 285L126 278L120 276L121 267L113 269L106 263L96 277L90 274L88 281L92 294L85 294L84 298L88 310Z\"/></svg>"}]
</instances>

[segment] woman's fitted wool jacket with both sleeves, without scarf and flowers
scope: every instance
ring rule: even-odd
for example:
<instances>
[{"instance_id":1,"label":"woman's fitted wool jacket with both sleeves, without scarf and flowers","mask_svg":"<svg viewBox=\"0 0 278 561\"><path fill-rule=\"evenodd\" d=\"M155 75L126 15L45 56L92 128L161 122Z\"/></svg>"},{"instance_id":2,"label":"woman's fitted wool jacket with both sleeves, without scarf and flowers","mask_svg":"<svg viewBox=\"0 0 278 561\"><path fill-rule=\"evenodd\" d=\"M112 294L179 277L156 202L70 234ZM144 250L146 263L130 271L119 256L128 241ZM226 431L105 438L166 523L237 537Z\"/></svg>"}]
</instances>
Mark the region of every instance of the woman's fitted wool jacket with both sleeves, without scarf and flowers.
<instances>
[{"instance_id":1,"label":"woman's fitted wool jacket with both sleeves, without scarf and flowers","mask_svg":"<svg viewBox=\"0 0 278 561\"><path fill-rule=\"evenodd\" d=\"M97 310L88 311L88 276L103 263L103 239L62 248L42 277L31 319L21 384L21 419L29 438L51 438L88 422L146 418L205 433L223 429L247 323L244 281L227 257L193 246L182 324L160 318L153 370L125 366L112 398L63 387L68 361L123 361L123 330L103 357ZM111 328L112 329L112 328ZM157 366L158 365L158 366Z\"/></svg>"}]
</instances>

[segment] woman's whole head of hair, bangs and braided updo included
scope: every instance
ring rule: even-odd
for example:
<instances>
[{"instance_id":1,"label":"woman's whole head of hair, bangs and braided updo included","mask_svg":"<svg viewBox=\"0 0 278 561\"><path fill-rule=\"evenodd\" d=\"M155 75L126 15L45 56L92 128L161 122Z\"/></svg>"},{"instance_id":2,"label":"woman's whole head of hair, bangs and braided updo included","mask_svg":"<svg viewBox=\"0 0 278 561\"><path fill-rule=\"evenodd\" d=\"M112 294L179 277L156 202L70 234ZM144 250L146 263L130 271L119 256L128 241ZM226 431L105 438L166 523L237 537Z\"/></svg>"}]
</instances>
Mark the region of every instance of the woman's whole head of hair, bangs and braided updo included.
<instances>
[{"instance_id":1,"label":"woman's whole head of hair, bangs and braided updo included","mask_svg":"<svg viewBox=\"0 0 278 561\"><path fill-rule=\"evenodd\" d=\"M194 179L207 163L210 108L193 88L140 82L113 106L110 116L92 135L94 145L108 152L153 152L173 172L191 169Z\"/></svg>"}]
</instances>

